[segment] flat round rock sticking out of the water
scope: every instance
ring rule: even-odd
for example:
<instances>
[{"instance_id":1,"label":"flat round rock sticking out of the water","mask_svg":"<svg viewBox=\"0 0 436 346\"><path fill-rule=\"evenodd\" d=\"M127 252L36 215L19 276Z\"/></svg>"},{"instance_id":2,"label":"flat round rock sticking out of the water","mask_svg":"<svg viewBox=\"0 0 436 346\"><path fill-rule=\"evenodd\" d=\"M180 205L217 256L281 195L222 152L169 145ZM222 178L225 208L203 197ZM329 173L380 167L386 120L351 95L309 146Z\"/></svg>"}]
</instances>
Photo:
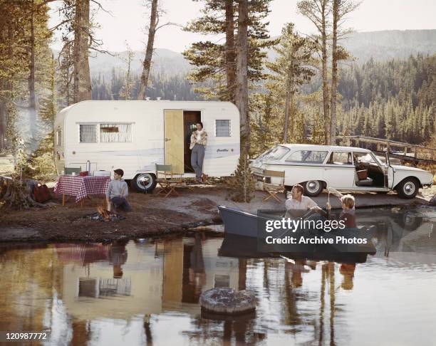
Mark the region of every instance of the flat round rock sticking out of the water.
<instances>
[{"instance_id":1,"label":"flat round rock sticking out of the water","mask_svg":"<svg viewBox=\"0 0 436 346\"><path fill-rule=\"evenodd\" d=\"M212 288L200 297L202 309L222 315L239 315L256 310L254 293L233 288Z\"/></svg>"}]
</instances>

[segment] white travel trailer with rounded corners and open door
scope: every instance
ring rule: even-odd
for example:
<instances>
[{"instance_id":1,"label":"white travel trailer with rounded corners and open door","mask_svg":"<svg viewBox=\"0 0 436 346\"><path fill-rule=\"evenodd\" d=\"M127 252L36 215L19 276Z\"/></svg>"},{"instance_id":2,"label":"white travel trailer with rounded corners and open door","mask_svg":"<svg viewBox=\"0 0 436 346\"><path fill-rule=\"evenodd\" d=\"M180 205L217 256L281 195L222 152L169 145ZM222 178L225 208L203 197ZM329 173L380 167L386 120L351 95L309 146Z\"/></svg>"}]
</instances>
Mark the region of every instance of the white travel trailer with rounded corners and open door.
<instances>
[{"instance_id":1,"label":"white travel trailer with rounded corners and open door","mask_svg":"<svg viewBox=\"0 0 436 346\"><path fill-rule=\"evenodd\" d=\"M124 170L142 192L155 188L155 164L194 177L190 136L202 122L208 141L203 171L211 177L234 172L239 159L239 111L229 102L82 101L61 110L55 121L56 169Z\"/></svg>"}]
</instances>

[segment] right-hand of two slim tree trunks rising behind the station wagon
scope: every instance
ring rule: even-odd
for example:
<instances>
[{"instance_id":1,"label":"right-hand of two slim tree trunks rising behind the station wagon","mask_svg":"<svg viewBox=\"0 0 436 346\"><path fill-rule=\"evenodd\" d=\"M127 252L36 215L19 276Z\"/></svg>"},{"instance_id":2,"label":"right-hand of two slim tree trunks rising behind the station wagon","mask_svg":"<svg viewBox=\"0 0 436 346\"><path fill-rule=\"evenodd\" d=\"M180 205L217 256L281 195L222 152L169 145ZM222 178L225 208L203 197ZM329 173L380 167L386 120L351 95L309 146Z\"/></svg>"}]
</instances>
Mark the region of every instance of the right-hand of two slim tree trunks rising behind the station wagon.
<instances>
[{"instance_id":1,"label":"right-hand of two slim tree trunks rising behind the station wagon","mask_svg":"<svg viewBox=\"0 0 436 346\"><path fill-rule=\"evenodd\" d=\"M331 46L330 145L336 145L336 90L338 88L338 0L333 0L333 41Z\"/></svg>"}]
</instances>

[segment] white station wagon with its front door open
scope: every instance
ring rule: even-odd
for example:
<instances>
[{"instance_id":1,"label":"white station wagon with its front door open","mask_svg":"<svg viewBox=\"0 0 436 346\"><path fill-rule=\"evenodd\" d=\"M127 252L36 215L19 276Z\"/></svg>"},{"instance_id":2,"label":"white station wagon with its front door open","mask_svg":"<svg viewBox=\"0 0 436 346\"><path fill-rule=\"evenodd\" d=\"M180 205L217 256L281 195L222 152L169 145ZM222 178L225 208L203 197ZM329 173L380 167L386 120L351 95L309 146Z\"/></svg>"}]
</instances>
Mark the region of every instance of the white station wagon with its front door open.
<instances>
[{"instance_id":1,"label":"white station wagon with its front door open","mask_svg":"<svg viewBox=\"0 0 436 346\"><path fill-rule=\"evenodd\" d=\"M323 189L333 187L346 191L386 193L392 190L404 198L416 196L420 187L431 187L433 175L422 169L390 164L373 152L357 147L331 145L276 145L250 164L257 179L265 177L265 170L285 172L284 185L304 187L307 196L318 196Z\"/></svg>"}]
</instances>

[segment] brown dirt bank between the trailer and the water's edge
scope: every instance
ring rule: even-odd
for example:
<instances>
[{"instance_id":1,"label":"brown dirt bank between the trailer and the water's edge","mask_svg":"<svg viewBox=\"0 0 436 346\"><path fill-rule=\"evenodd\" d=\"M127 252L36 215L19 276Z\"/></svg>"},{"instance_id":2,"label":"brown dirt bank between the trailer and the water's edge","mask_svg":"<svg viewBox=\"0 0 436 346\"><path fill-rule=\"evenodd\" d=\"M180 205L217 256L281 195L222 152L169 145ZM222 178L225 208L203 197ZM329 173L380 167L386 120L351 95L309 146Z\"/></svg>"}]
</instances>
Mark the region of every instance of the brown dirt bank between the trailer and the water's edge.
<instances>
[{"instance_id":1,"label":"brown dirt bank between the trailer and the water's edge","mask_svg":"<svg viewBox=\"0 0 436 346\"><path fill-rule=\"evenodd\" d=\"M53 186L54 184L51 184ZM85 200L83 207L76 204L73 197L62 206L61 196L56 196L51 205L41 209L11 211L0 209L0 241L106 241L117 238L145 238L170 233L183 233L188 228L214 224L220 221L217 205L237 207L256 212L257 209L279 209L282 203L269 199L266 194L256 192L249 204L235 203L226 199L223 187L191 185L177 189L179 196L155 196L130 192L128 200L133 207L124 213L120 221L95 221L85 216L94 214L103 204L103 196L93 196ZM427 204L436 193L436 187L421 190L412 200L400 199L397 194L354 194L356 207L398 206L405 204ZM328 195L324 192L314 198L320 206L325 206ZM333 208L340 208L340 201L331 196Z\"/></svg>"}]
</instances>

